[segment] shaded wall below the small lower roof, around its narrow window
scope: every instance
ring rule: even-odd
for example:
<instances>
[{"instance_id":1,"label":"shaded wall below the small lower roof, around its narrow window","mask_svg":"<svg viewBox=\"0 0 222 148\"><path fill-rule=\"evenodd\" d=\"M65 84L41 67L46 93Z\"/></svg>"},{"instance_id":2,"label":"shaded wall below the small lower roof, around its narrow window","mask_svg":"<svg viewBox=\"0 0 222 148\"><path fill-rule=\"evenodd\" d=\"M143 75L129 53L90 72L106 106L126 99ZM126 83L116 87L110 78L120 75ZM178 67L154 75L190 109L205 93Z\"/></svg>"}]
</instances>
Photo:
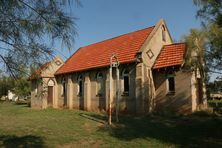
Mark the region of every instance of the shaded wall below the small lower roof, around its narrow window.
<instances>
[{"instance_id":1,"label":"shaded wall below the small lower roof, around its narrow window","mask_svg":"<svg viewBox=\"0 0 222 148\"><path fill-rule=\"evenodd\" d=\"M192 112L191 77L190 72L175 73L175 93L168 94L165 72L153 72L156 89L155 111L158 112Z\"/></svg>"}]
</instances>

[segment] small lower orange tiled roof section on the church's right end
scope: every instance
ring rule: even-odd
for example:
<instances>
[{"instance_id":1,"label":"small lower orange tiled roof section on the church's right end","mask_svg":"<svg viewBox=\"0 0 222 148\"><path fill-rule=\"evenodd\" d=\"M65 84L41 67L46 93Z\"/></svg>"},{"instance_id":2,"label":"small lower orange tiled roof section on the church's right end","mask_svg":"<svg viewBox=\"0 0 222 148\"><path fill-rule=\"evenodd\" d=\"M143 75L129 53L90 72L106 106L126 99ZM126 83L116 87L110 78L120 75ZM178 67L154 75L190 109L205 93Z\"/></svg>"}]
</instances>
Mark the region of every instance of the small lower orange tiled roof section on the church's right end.
<instances>
[{"instance_id":1,"label":"small lower orange tiled roof section on the church's right end","mask_svg":"<svg viewBox=\"0 0 222 148\"><path fill-rule=\"evenodd\" d=\"M157 57L153 69L181 65L186 50L185 43L165 45Z\"/></svg>"}]
</instances>

